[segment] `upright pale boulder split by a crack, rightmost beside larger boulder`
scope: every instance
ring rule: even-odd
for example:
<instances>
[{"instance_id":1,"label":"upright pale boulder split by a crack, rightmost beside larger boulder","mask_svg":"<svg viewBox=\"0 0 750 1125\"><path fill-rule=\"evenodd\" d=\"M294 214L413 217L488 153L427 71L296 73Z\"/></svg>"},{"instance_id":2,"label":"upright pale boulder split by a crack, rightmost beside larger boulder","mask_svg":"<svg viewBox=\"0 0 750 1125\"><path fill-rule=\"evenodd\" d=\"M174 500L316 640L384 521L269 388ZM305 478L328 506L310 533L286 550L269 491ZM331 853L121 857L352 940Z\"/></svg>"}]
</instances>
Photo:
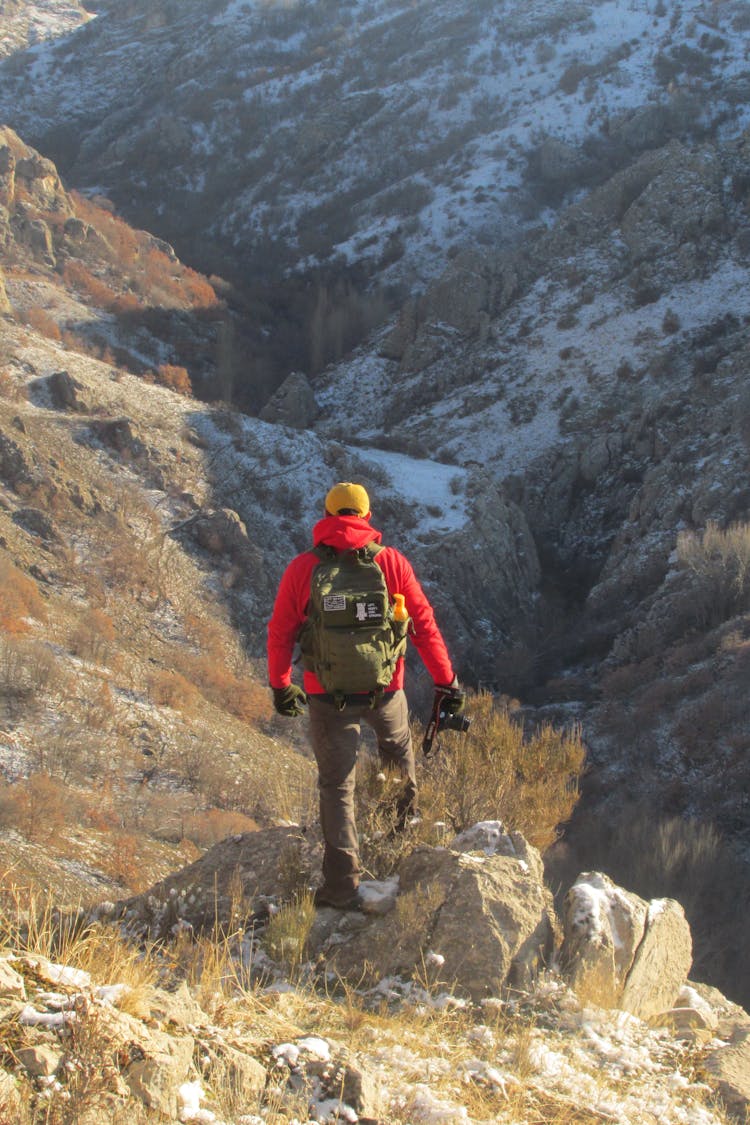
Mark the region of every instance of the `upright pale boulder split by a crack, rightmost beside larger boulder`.
<instances>
[{"instance_id":1,"label":"upright pale boulder split by a crack, rightmost beside larger boulder","mask_svg":"<svg viewBox=\"0 0 750 1125\"><path fill-rule=\"evenodd\" d=\"M672 899L647 903L599 872L564 901L560 960L584 999L648 1019L672 1008L692 963L690 929Z\"/></svg>"}]
</instances>

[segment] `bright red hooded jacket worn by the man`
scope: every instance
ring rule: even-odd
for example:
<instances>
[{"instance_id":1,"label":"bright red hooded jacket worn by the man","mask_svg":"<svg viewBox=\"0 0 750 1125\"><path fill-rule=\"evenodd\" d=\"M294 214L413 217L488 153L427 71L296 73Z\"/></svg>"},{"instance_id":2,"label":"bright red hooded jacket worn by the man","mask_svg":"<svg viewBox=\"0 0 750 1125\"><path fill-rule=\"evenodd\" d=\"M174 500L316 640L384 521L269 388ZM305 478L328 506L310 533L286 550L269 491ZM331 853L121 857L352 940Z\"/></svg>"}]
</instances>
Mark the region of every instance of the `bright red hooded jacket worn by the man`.
<instances>
[{"instance_id":1,"label":"bright red hooded jacket worn by the man","mask_svg":"<svg viewBox=\"0 0 750 1125\"><path fill-rule=\"evenodd\" d=\"M359 515L326 515L313 529L313 542L328 543L337 550L354 550L365 543L379 543L381 534L371 528L368 519ZM299 630L307 619L310 596L310 578L319 562L314 551L305 551L293 558L279 584L279 592L269 621L269 683L271 687L287 687L291 683L291 657ZM445 642L435 623L435 615L427 596L419 585L412 564L394 547L383 547L376 555L376 562L386 576L389 593L404 594L406 608L412 618L413 632L409 633L427 672L436 684L450 684L453 666ZM305 691L324 693L317 676L305 672ZM387 691L404 686L404 659L401 658Z\"/></svg>"}]
</instances>

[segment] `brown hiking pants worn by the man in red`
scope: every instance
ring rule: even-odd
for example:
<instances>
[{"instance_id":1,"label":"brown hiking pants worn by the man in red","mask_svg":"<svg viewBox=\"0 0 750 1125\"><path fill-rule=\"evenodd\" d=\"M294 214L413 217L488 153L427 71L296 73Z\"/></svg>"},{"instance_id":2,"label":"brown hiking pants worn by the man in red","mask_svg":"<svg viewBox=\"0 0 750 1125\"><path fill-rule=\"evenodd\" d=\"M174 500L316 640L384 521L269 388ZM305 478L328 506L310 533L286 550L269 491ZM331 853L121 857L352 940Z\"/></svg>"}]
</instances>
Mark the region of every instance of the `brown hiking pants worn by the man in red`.
<instances>
[{"instance_id":1,"label":"brown hiking pants worn by the man in red","mask_svg":"<svg viewBox=\"0 0 750 1125\"><path fill-rule=\"evenodd\" d=\"M395 766L404 788L394 809L404 827L416 800L416 771L408 708L403 691L386 692L374 708L369 699L350 698L338 710L331 696L309 695L310 740L318 766L323 886L335 901L346 901L360 882L360 849L354 821L354 778L361 723L376 734L380 758Z\"/></svg>"}]
</instances>

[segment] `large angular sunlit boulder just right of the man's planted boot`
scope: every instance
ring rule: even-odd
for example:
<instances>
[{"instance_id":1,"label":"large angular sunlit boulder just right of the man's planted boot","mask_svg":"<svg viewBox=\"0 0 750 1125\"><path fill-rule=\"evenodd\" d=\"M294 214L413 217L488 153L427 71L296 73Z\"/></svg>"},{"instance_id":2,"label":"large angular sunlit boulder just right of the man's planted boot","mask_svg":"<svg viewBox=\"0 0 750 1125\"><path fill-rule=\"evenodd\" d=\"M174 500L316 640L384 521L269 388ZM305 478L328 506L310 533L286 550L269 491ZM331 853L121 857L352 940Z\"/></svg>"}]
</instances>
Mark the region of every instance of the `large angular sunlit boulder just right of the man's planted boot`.
<instances>
[{"instance_id":1,"label":"large angular sunlit boulder just right of the man's planted boot","mask_svg":"<svg viewBox=\"0 0 750 1125\"><path fill-rule=\"evenodd\" d=\"M417 847L398 867L395 908L318 952L344 978L419 976L479 1001L525 987L551 957L555 919L542 860L517 832Z\"/></svg>"}]
</instances>

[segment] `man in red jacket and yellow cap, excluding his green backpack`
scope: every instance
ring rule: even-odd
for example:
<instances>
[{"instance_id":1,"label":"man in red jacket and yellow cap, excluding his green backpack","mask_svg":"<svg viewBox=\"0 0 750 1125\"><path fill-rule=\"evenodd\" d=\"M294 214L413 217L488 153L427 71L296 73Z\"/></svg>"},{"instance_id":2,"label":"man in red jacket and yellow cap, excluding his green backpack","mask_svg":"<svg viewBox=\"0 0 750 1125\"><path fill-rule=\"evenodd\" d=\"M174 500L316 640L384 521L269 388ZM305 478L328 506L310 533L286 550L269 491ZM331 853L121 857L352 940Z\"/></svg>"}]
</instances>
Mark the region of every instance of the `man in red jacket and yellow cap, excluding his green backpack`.
<instances>
[{"instance_id":1,"label":"man in red jacket and yellow cap, excluding his green backpack","mask_svg":"<svg viewBox=\"0 0 750 1125\"><path fill-rule=\"evenodd\" d=\"M325 516L313 529L314 549L298 555L284 570L269 622L269 682L275 710L279 714L293 717L302 713L302 704L309 704L324 838L323 885L315 901L317 906L338 909L356 909L359 904L354 780L361 722L373 729L382 760L395 766L404 778L404 792L397 808L398 827L404 827L414 809L416 771L404 693L403 656L398 656L385 690L343 695L333 692L331 685L326 690L309 662L304 688L291 681L292 651L300 630L308 622L314 573L322 559L356 556L363 549L370 551L382 570L390 601L395 594L404 595L412 640L435 687L448 693L444 710L458 714L466 699L432 606L410 562L395 548L381 548L381 538L370 525L370 500L362 485L351 482L334 485L326 496ZM382 578L378 576L378 580Z\"/></svg>"}]
</instances>

